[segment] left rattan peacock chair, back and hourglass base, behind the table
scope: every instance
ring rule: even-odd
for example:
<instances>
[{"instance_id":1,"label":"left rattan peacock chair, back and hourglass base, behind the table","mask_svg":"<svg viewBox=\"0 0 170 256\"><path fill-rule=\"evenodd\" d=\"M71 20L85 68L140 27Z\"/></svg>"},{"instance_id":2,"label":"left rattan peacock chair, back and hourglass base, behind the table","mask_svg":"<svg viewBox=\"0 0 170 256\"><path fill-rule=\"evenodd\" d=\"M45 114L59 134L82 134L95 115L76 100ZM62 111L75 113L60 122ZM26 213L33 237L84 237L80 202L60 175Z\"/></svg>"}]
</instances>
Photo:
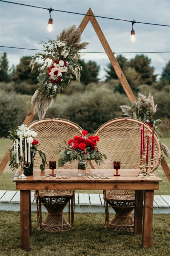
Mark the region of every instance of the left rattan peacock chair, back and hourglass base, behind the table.
<instances>
[{"instance_id":1,"label":"left rattan peacock chair, back and hourglass base, behind the table","mask_svg":"<svg viewBox=\"0 0 170 256\"><path fill-rule=\"evenodd\" d=\"M29 125L35 132L38 132L36 140L39 149L46 154L47 163L50 160L58 162L60 155L55 152L64 141L67 142L75 135L80 135L82 129L75 123L65 119L47 118L32 122ZM36 155L34 168L38 169L41 164L39 154ZM47 165L46 168L49 169ZM65 168L77 168L76 161L65 164ZM57 168L58 169L58 168ZM37 203L37 227L39 230L48 232L67 231L73 228L74 223L74 198L73 190L36 190L34 193ZM70 222L70 200L71 200L71 222ZM63 209L69 202L69 222L63 217ZM42 223L41 204L43 204L48 215Z\"/></svg>"}]
</instances>

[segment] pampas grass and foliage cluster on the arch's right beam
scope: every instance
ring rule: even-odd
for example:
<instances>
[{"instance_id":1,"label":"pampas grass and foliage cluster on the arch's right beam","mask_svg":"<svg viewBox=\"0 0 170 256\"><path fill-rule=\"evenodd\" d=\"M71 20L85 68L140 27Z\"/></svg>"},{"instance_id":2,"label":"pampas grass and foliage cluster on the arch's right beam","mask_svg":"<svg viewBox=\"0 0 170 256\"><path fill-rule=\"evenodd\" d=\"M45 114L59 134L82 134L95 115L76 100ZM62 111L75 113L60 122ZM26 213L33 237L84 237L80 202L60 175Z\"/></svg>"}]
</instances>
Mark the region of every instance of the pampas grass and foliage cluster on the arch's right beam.
<instances>
[{"instance_id":1,"label":"pampas grass and foliage cluster on the arch's right beam","mask_svg":"<svg viewBox=\"0 0 170 256\"><path fill-rule=\"evenodd\" d=\"M155 105L154 97L151 93L149 93L148 97L138 93L138 99L136 102L133 102L131 106L122 105L120 108L122 109L123 115L137 118L148 124L151 128L153 127L154 130L159 133L158 126L161 120L154 119L154 114L157 111L157 104ZM169 148L163 143L161 143L161 145L165 155L170 157Z\"/></svg>"}]
</instances>

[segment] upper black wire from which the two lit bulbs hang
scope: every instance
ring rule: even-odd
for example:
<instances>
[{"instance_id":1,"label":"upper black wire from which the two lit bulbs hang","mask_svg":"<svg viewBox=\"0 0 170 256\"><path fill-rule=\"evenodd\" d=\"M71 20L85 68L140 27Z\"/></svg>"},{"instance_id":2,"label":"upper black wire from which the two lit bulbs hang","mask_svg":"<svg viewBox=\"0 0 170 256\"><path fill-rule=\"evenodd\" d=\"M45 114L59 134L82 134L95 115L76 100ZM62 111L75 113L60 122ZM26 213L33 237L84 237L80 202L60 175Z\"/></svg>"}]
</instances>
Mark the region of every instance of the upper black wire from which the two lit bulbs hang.
<instances>
[{"instance_id":1,"label":"upper black wire from which the two lit bulbs hang","mask_svg":"<svg viewBox=\"0 0 170 256\"><path fill-rule=\"evenodd\" d=\"M44 8L44 7L35 6L35 5L20 4L20 3L14 3L14 2L4 1L4 0L0 0L0 1L1 1L1 2L5 2L5 3L10 3L10 4L18 4L18 5L24 5L24 6L29 6L29 7L34 7L34 8L49 10L49 8ZM132 22L132 20L109 18L109 17L98 16L98 15L91 15L91 14L85 14L85 13L68 12L68 11L57 10L57 9L53 9L53 11L56 11L56 12L63 12L63 13L72 13L72 14L78 14L78 15L84 15L84 16L92 16L92 17L104 18L104 19L113 19L113 20L121 20L121 21L126 21L126 22ZM170 27L170 25L155 24L155 23L147 23L147 22L139 22L139 21L136 21L135 23L148 24L148 25L155 25L155 26Z\"/></svg>"}]
</instances>

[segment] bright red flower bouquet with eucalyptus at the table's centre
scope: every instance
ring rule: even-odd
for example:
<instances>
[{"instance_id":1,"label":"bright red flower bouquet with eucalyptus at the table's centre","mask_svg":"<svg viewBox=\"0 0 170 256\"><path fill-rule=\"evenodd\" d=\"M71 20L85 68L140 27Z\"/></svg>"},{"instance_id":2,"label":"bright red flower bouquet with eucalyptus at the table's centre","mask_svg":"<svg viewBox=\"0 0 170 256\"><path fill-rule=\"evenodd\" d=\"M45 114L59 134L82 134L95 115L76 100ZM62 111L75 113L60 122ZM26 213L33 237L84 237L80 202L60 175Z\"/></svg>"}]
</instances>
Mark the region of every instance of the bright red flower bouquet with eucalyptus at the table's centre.
<instances>
[{"instance_id":1,"label":"bright red flower bouquet with eucalyptus at the table's centre","mask_svg":"<svg viewBox=\"0 0 170 256\"><path fill-rule=\"evenodd\" d=\"M88 131L82 131L81 136L75 136L58 150L61 158L58 159L58 166L63 167L65 163L72 160L86 161L95 160L100 165L107 159L105 154L101 154L97 147L98 136L89 136Z\"/></svg>"}]
</instances>

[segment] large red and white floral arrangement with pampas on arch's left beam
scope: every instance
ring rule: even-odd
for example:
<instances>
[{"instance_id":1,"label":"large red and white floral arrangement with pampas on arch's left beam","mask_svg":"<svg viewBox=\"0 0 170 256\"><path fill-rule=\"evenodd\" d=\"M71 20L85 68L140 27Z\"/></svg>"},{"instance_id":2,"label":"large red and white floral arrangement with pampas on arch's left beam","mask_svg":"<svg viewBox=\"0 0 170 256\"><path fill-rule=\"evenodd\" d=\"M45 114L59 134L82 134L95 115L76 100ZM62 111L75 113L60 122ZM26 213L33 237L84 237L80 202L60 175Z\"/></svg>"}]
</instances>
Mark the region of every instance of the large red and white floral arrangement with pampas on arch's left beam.
<instances>
[{"instance_id":1,"label":"large red and white floral arrangement with pampas on arch's left beam","mask_svg":"<svg viewBox=\"0 0 170 256\"><path fill-rule=\"evenodd\" d=\"M63 91L66 80L70 82L72 75L75 75L76 80L80 82L80 50L88 45L87 42L81 42L80 29L75 25L64 29L56 40L49 39L42 44L44 52L35 54L29 64L33 70L36 61L42 60L37 77L38 90L32 97L34 114L38 113L39 118L44 118L53 99Z\"/></svg>"}]
</instances>

